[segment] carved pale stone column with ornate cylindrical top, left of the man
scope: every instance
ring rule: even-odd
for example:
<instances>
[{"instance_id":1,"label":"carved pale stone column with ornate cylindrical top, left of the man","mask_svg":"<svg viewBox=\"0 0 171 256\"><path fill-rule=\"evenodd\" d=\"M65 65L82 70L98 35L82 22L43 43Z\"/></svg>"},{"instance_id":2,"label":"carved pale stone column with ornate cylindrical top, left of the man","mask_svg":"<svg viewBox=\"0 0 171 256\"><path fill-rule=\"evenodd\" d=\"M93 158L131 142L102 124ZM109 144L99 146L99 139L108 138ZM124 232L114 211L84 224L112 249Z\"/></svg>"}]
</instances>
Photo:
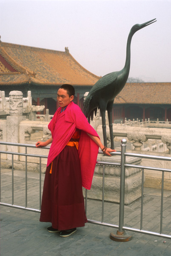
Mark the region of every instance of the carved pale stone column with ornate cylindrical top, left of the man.
<instances>
[{"instance_id":1,"label":"carved pale stone column with ornate cylindrical top, left of the man","mask_svg":"<svg viewBox=\"0 0 171 256\"><path fill-rule=\"evenodd\" d=\"M23 93L20 91L11 91L9 93L9 116L6 118L7 125L7 142L19 143L19 124L26 119L23 116ZM19 147L7 146L7 151L18 152ZM7 159L11 160L12 155L8 154ZM14 155L14 160L18 160L19 157Z\"/></svg>"}]
</instances>

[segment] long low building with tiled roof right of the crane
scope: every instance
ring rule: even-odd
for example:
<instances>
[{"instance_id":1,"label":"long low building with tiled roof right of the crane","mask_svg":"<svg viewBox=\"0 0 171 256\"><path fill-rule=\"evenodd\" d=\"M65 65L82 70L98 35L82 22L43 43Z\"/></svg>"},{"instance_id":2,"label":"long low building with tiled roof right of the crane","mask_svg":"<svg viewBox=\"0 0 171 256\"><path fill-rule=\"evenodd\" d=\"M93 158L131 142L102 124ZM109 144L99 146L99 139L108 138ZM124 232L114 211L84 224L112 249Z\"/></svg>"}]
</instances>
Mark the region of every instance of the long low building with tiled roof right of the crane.
<instances>
[{"instance_id":1,"label":"long low building with tiled roof right of the crane","mask_svg":"<svg viewBox=\"0 0 171 256\"><path fill-rule=\"evenodd\" d=\"M171 121L171 83L127 83L114 100L114 122L127 119Z\"/></svg>"}]
</instances>

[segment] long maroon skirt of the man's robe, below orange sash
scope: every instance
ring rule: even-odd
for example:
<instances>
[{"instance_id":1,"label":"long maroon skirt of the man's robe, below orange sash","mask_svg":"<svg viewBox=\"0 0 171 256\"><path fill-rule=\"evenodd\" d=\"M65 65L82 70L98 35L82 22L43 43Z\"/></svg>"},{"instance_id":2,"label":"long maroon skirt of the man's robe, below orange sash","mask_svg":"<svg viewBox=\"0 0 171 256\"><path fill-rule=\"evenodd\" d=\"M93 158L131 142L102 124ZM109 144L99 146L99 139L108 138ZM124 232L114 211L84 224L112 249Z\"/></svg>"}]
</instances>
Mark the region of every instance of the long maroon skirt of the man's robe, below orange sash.
<instances>
[{"instance_id":1,"label":"long maroon skirt of the man's robe, below orange sash","mask_svg":"<svg viewBox=\"0 0 171 256\"><path fill-rule=\"evenodd\" d=\"M40 221L58 230L83 227L85 216L80 159L77 148L66 146L46 169Z\"/></svg>"}]
</instances>

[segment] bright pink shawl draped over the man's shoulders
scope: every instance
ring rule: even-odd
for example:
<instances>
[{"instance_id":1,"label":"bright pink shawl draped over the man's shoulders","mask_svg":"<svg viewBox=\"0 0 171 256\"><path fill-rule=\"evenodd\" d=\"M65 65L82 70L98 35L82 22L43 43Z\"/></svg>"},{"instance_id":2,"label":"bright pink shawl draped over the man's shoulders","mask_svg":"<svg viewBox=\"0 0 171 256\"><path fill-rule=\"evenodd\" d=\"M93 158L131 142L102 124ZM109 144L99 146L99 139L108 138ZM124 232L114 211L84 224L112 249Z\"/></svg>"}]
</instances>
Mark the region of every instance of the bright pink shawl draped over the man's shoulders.
<instances>
[{"instance_id":1,"label":"bright pink shawl draped over the man's shoulders","mask_svg":"<svg viewBox=\"0 0 171 256\"><path fill-rule=\"evenodd\" d=\"M99 147L91 140L87 133L93 136L99 136L88 123L81 109L74 102L71 102L65 111L60 112L61 108L58 108L48 125L53 142L49 150L47 166L60 154L71 139L76 128L78 128L81 130L78 154L80 157L82 186L85 189L91 189Z\"/></svg>"}]
</instances>

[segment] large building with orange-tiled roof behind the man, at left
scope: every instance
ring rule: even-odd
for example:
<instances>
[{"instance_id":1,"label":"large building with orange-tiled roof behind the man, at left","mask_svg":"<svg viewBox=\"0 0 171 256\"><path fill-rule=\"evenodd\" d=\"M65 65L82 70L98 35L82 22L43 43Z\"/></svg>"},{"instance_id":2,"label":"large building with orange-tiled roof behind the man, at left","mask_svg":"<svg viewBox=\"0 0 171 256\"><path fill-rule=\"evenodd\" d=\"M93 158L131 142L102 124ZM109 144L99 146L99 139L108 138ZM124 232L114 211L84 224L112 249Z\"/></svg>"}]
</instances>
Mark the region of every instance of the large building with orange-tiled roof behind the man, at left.
<instances>
[{"instance_id":1,"label":"large building with orange-tiled roof behind the man, at left","mask_svg":"<svg viewBox=\"0 0 171 256\"><path fill-rule=\"evenodd\" d=\"M74 102L83 109L84 93L100 79L82 67L69 53L0 42L0 90L8 97L11 90L20 90L26 97L31 90L35 105L45 105L53 114L58 108L57 90L72 84Z\"/></svg>"}]
</instances>

